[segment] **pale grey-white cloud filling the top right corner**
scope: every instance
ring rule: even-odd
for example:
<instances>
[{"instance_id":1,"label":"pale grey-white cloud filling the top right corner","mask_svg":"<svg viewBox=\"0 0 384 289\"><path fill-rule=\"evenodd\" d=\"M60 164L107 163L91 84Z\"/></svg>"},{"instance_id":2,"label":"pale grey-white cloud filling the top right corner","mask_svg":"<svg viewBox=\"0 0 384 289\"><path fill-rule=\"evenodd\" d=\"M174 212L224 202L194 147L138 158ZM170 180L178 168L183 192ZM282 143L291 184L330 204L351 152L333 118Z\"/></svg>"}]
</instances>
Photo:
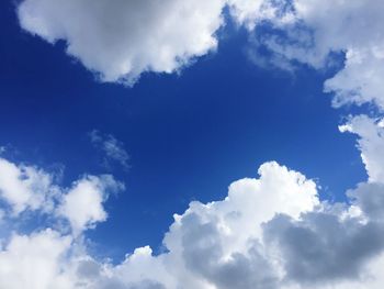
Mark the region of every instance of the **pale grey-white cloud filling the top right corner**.
<instances>
[{"instance_id":1,"label":"pale grey-white cloud filling the top right corner","mask_svg":"<svg viewBox=\"0 0 384 289\"><path fill-rule=\"evenodd\" d=\"M346 52L343 69L326 82L336 93L335 104L374 102L384 108L384 9L380 0L296 0L297 18L314 32L314 45L321 56Z\"/></svg>"}]
</instances>

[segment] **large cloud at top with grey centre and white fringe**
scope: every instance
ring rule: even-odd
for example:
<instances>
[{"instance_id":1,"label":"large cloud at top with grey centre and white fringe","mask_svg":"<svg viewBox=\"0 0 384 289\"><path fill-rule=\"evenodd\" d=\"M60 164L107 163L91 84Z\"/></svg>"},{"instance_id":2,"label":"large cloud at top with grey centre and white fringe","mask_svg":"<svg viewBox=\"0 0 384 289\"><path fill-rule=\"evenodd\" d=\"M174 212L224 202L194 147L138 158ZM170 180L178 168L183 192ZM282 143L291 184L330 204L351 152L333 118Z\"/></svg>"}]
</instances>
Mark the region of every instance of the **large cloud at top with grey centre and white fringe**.
<instances>
[{"instance_id":1,"label":"large cloud at top with grey centre and white fringe","mask_svg":"<svg viewBox=\"0 0 384 289\"><path fill-rule=\"evenodd\" d=\"M67 53L102 81L134 84L145 71L173 73L214 51L223 10L255 26L262 0L24 0L21 26Z\"/></svg>"}]
</instances>

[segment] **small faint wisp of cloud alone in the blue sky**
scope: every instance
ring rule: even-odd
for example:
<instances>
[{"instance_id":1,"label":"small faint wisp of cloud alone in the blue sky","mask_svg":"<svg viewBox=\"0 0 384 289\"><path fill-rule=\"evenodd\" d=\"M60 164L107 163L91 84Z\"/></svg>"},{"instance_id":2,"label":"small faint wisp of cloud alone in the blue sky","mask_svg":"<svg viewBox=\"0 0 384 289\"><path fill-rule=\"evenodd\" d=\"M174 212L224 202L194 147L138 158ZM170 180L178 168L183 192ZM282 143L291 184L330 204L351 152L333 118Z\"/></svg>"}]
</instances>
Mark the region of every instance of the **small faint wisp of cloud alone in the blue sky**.
<instances>
[{"instance_id":1,"label":"small faint wisp of cloud alone in the blue sky","mask_svg":"<svg viewBox=\"0 0 384 289\"><path fill-rule=\"evenodd\" d=\"M129 155L125 151L124 144L122 142L116 140L111 134L103 135L97 130L90 132L89 137L93 146L105 154L105 157L103 159L103 165L105 167L110 167L110 163L114 162L120 164L125 169L129 168Z\"/></svg>"}]
</instances>

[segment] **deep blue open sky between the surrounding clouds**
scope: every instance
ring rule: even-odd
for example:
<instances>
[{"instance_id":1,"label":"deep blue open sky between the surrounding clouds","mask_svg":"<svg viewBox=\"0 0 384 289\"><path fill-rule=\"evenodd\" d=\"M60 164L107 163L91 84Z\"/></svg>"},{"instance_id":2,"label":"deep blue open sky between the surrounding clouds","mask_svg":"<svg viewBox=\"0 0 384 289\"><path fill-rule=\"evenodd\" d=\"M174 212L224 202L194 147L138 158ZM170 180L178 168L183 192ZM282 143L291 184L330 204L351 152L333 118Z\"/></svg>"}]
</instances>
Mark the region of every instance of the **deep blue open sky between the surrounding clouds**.
<instances>
[{"instance_id":1,"label":"deep blue open sky between the surrounding clouds","mask_svg":"<svg viewBox=\"0 0 384 289\"><path fill-rule=\"evenodd\" d=\"M68 56L69 40L49 44L38 30L22 29L16 5L0 3L1 157L59 176L60 187L86 174L110 174L125 185L104 203L108 221L83 233L94 258L120 263L145 245L161 254L173 213L183 214L191 201L223 200L229 184L257 178L266 162L314 179L319 200L331 203L349 203L346 191L372 176L360 156L365 144L357 147L358 137L338 126L351 115L376 118L380 104L335 108L335 93L324 92L325 81L345 68L342 52L321 68L304 56L286 56L293 70L283 69L283 62L258 65L250 51L253 37L267 37L267 30L262 23L259 31L239 25L227 11L214 52L192 57L179 73L140 71L127 86L98 80L83 55ZM261 47L257 57L270 62L273 55L280 54ZM115 140L128 165L105 155L92 142L92 131ZM364 137L358 129L351 132ZM45 216L26 219L21 231L45 226Z\"/></svg>"}]
</instances>

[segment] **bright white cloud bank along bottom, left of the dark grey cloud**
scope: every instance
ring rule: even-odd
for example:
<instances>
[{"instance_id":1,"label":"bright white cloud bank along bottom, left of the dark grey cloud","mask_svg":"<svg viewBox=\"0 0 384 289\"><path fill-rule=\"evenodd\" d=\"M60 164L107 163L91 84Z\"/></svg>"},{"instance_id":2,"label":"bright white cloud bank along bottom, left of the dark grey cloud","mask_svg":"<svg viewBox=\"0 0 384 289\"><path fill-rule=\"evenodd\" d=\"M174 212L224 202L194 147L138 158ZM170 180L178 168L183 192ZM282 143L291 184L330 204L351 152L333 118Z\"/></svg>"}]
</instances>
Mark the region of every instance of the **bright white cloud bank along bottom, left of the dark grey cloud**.
<instances>
[{"instance_id":1,"label":"bright white cloud bank along bottom, left of the dark grey cloud","mask_svg":"<svg viewBox=\"0 0 384 289\"><path fill-rule=\"evenodd\" d=\"M105 191L121 185L111 177L81 178L72 188L61 189L65 192L52 212L53 218L68 220L72 230L47 229L11 237L0 251L0 264L22 270L21 278L15 280L15 269L5 269L0 284L9 289L23 288L27 281L39 289L54 284L61 288L192 289L233 288L242 280L244 288L251 284L269 288L270 280L275 284L278 279L260 247L261 224L278 212L296 220L319 201L316 185L300 173L272 162L262 165L259 174L259 179L231 184L225 200L193 202L184 214L176 215L165 237L169 253L155 257L149 247L137 248L117 266L98 263L76 248L84 246L79 237L84 230L105 220ZM253 270L260 274L253 275Z\"/></svg>"}]
</instances>

